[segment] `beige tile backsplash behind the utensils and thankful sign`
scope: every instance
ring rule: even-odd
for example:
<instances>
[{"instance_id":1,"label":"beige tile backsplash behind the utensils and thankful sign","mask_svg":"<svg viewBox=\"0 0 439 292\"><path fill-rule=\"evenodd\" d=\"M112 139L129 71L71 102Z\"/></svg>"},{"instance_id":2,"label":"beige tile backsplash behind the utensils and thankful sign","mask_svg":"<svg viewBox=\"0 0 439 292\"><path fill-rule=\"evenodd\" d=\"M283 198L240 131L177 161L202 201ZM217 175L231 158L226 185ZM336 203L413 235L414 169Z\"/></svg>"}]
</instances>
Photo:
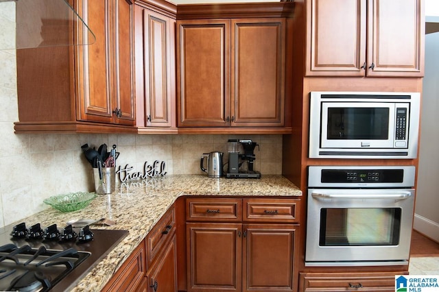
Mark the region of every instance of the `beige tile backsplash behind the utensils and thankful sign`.
<instances>
[{"instance_id":1,"label":"beige tile backsplash behind the utensils and thankful sign","mask_svg":"<svg viewBox=\"0 0 439 292\"><path fill-rule=\"evenodd\" d=\"M2 27L14 22L14 5L3 5ZM14 29L2 29L0 36L0 42L14 40ZM226 153L229 138L250 138L260 145L254 151L254 169L262 174L282 171L282 135L14 134L19 115L13 50L0 50L0 101L0 228L49 208L43 203L47 197L94 190L93 171L80 148L84 143L116 144L117 164L136 171L143 171L146 161L165 161L165 170L172 175L202 173L202 153Z\"/></svg>"}]
</instances>

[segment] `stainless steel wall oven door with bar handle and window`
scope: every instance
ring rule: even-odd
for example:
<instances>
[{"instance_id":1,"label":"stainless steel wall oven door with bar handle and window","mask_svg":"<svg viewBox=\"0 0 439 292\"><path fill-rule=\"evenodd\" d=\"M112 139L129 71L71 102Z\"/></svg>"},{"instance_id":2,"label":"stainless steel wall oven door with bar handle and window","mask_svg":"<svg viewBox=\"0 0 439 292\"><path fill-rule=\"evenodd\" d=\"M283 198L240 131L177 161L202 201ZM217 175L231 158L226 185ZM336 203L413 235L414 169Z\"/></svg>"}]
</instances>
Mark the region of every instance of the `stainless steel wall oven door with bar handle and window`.
<instances>
[{"instance_id":1,"label":"stainless steel wall oven door with bar handle and window","mask_svg":"<svg viewBox=\"0 0 439 292\"><path fill-rule=\"evenodd\" d=\"M407 265L414 189L309 189L306 266Z\"/></svg>"}]
</instances>

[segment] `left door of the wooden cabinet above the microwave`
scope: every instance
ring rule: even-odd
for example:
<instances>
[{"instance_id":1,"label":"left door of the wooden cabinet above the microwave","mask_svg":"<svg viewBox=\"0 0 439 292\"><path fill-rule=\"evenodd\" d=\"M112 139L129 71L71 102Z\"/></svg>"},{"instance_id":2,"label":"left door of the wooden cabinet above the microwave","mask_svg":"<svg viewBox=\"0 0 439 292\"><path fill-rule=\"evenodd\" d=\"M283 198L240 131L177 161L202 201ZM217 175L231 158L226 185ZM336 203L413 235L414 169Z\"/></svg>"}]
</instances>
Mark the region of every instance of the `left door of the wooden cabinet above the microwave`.
<instances>
[{"instance_id":1,"label":"left door of the wooden cabinet above the microwave","mask_svg":"<svg viewBox=\"0 0 439 292\"><path fill-rule=\"evenodd\" d=\"M307 76L364 76L366 1L307 1L306 48Z\"/></svg>"}]
</instances>

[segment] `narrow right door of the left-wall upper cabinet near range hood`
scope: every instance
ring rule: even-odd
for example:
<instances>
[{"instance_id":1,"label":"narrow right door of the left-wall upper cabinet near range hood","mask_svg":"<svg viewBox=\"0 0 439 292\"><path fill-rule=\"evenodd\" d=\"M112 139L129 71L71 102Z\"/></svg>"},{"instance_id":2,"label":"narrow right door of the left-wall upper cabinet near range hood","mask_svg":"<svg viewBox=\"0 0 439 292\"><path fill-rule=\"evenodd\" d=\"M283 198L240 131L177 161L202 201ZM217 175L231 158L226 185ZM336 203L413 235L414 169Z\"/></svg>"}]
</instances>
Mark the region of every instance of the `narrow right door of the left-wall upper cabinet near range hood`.
<instances>
[{"instance_id":1,"label":"narrow right door of the left-wall upper cabinet near range hood","mask_svg":"<svg viewBox=\"0 0 439 292\"><path fill-rule=\"evenodd\" d=\"M113 0L112 78L116 110L115 123L134 125L133 21L134 5L127 0Z\"/></svg>"}]
</instances>

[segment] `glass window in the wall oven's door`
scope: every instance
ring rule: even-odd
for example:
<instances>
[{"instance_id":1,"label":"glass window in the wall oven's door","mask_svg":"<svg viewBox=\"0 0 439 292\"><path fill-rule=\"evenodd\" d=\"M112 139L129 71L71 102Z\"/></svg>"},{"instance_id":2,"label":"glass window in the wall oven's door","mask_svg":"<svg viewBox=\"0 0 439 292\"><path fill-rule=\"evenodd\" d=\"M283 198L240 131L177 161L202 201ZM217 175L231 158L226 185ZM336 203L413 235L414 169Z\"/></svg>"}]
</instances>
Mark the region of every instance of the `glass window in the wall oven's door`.
<instances>
[{"instance_id":1,"label":"glass window in the wall oven's door","mask_svg":"<svg viewBox=\"0 0 439 292\"><path fill-rule=\"evenodd\" d=\"M322 208L320 246L398 245L401 208Z\"/></svg>"}]
</instances>

